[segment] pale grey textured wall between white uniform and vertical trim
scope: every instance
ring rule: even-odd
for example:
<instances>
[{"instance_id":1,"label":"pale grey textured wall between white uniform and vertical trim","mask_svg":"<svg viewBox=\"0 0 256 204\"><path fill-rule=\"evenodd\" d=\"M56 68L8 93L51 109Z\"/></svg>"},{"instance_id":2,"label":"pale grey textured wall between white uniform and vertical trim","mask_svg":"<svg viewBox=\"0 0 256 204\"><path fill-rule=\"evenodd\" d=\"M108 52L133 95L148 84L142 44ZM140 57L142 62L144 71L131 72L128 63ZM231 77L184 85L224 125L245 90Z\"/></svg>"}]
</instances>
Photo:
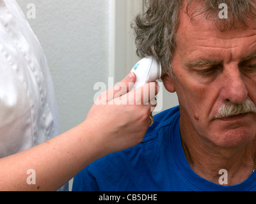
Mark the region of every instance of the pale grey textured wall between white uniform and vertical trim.
<instances>
[{"instance_id":1,"label":"pale grey textured wall between white uniform and vertical trim","mask_svg":"<svg viewBox=\"0 0 256 204\"><path fill-rule=\"evenodd\" d=\"M44 48L59 108L61 131L82 122L93 104L93 85L107 82L110 1L17 0Z\"/></svg>"}]
</instances>

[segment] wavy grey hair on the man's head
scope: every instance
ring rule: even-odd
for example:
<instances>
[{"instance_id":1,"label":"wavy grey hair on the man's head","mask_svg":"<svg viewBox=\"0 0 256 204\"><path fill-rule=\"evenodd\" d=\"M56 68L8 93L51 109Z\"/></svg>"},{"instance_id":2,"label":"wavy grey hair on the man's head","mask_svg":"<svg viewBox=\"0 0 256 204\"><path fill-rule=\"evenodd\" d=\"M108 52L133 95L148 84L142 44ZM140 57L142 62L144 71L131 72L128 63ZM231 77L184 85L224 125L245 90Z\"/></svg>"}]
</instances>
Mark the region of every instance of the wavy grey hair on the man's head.
<instances>
[{"instance_id":1,"label":"wavy grey hair on the man's head","mask_svg":"<svg viewBox=\"0 0 256 204\"><path fill-rule=\"evenodd\" d=\"M165 71L172 74L172 56L175 50L175 35L179 26L179 13L184 0L147 0L146 11L134 20L132 28L136 36L137 55L139 57L154 56ZM202 6L191 11L193 3ZM228 6L228 18L214 18L220 12L219 5ZM221 30L246 26L248 18L255 19L255 0L189 0L186 12L190 18L205 14L205 18L215 22ZM199 5L200 5L199 4ZM189 13L190 12L190 13Z\"/></svg>"}]
</instances>

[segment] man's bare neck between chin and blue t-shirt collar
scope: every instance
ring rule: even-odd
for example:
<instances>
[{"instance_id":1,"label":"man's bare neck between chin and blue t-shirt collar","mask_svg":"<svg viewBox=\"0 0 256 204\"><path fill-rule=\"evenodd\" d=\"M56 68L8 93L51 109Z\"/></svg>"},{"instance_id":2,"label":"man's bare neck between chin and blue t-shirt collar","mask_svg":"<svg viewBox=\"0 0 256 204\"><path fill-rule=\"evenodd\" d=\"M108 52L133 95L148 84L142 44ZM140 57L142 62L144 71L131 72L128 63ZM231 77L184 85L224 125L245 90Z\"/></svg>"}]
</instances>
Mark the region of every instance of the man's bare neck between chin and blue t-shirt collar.
<instances>
[{"instance_id":1,"label":"man's bare neck between chin and blue t-shirt collar","mask_svg":"<svg viewBox=\"0 0 256 204\"><path fill-rule=\"evenodd\" d=\"M217 147L209 141L202 140L200 136L191 134L191 131L182 127L181 123L180 135L189 166L200 177L216 184L223 184L221 176L227 176L228 182L223 185L230 186L243 182L252 173L256 157L253 148L255 140L243 147Z\"/></svg>"}]
</instances>

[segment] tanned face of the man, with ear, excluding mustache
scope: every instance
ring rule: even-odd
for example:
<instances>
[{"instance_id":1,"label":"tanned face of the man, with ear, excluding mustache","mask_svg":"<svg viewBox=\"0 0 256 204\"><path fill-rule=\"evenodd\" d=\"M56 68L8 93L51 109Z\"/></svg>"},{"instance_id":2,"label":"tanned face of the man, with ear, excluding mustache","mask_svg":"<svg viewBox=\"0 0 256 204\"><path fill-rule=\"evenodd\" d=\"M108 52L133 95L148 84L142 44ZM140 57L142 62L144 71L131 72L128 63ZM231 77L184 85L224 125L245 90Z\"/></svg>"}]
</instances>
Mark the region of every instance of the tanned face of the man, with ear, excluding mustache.
<instances>
[{"instance_id":1,"label":"tanned face of the man, with ear, excluding mustache","mask_svg":"<svg viewBox=\"0 0 256 204\"><path fill-rule=\"evenodd\" d=\"M202 15L190 20L181 13L172 60L177 80L163 78L166 89L179 97L180 128L220 147L252 142L255 113L221 119L215 115L225 103L256 103L255 22L221 32Z\"/></svg>"}]
</instances>

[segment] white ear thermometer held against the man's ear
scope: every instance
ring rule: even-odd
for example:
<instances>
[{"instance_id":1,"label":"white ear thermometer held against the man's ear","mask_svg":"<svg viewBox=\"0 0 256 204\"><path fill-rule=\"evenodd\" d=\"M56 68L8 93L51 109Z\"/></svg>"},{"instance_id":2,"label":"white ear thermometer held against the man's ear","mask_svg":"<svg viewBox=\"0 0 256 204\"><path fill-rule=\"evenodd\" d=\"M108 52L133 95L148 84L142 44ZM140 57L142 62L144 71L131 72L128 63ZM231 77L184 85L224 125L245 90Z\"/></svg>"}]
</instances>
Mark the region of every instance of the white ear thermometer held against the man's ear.
<instances>
[{"instance_id":1,"label":"white ear thermometer held against the man's ear","mask_svg":"<svg viewBox=\"0 0 256 204\"><path fill-rule=\"evenodd\" d=\"M131 72L136 74L136 82L132 90L138 89L144 84L155 82L162 75L161 64L152 56L145 57L137 62Z\"/></svg>"}]
</instances>

